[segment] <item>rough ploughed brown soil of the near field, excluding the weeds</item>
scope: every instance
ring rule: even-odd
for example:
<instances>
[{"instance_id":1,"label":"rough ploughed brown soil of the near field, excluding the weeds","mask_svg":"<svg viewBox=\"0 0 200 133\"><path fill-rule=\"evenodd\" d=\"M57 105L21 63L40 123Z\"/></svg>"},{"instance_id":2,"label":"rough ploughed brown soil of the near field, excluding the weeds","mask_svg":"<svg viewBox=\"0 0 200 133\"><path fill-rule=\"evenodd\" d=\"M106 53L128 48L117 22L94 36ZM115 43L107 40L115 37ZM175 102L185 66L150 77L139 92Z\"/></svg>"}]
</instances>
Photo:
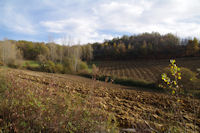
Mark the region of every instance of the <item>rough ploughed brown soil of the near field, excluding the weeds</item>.
<instances>
[{"instance_id":1,"label":"rough ploughed brown soil of the near field, excluding the weeds","mask_svg":"<svg viewBox=\"0 0 200 133\"><path fill-rule=\"evenodd\" d=\"M182 128L182 131L188 132L200 130L200 116L199 113L197 114L200 111L200 101L197 99L181 97L179 103L181 111L178 114L174 109L177 99L164 93L147 92L141 88L93 81L74 75L17 69L6 69L6 73L16 94L20 93L20 88L26 88L33 94L41 95L42 98L51 96L50 100L60 95L57 90L61 90L62 95L65 94L64 92L72 95L78 94L86 100L85 104L92 110L100 109L105 112L104 114L113 113L121 128L134 128L137 132L164 132L174 126L176 129ZM46 90L47 88L50 88L50 92ZM23 97L21 96L22 100ZM57 102L59 101L54 101L59 105ZM18 108L21 106L23 105L19 104ZM28 118L32 118L31 114L26 114L26 117L27 121ZM6 121L2 116L0 120ZM11 123L16 124L15 120ZM52 128L49 131L56 130Z\"/></svg>"}]
</instances>

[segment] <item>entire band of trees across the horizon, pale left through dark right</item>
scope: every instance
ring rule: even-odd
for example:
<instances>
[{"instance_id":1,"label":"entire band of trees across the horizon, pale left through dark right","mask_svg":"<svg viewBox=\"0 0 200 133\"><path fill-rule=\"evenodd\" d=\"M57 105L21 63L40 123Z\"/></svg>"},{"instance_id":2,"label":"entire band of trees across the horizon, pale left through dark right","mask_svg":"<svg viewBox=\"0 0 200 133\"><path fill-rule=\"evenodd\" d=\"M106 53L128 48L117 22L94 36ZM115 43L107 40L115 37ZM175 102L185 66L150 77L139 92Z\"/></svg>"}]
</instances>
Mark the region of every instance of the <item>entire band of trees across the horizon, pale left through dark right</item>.
<instances>
[{"instance_id":1,"label":"entire band of trees across the horizon, pale left through dark right","mask_svg":"<svg viewBox=\"0 0 200 133\"><path fill-rule=\"evenodd\" d=\"M77 72L87 68L91 60L160 59L200 56L197 38L180 39L171 33L157 32L113 38L103 43L86 45L62 45L50 40L48 43L25 40L0 41L0 64L18 65L21 60L35 60L45 71L54 72L56 66L62 71ZM47 66L53 66L50 70ZM55 67L54 67L55 66ZM66 70L63 70L66 68ZM47 69L47 70L46 70Z\"/></svg>"}]
</instances>

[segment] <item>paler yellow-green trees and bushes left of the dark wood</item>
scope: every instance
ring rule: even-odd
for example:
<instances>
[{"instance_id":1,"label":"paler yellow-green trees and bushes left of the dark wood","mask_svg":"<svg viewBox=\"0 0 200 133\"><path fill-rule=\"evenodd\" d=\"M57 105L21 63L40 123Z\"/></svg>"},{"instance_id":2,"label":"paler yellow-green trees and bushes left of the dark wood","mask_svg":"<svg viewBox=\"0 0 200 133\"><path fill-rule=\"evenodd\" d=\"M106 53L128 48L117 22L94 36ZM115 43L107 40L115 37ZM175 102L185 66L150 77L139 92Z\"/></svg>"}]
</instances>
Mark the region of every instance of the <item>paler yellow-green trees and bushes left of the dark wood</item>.
<instances>
[{"instance_id":1,"label":"paler yellow-green trees and bushes left of the dark wood","mask_svg":"<svg viewBox=\"0 0 200 133\"><path fill-rule=\"evenodd\" d=\"M48 42L31 42L25 40L0 41L0 63L18 67L23 60L34 60L41 71L78 72L87 69L87 63L93 58L93 49L88 45L58 45ZM27 64L27 67L31 67Z\"/></svg>"}]
</instances>

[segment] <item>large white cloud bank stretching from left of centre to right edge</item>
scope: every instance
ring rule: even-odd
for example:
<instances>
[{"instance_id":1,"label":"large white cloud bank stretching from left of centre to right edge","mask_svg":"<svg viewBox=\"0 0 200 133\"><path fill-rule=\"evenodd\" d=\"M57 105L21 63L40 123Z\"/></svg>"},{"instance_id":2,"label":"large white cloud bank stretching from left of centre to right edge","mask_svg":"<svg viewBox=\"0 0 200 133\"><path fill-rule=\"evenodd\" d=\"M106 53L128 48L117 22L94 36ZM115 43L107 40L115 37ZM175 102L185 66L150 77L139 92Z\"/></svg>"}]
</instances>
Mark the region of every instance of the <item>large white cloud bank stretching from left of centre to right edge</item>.
<instances>
[{"instance_id":1,"label":"large white cloud bank stretching from left of centre to right edge","mask_svg":"<svg viewBox=\"0 0 200 133\"><path fill-rule=\"evenodd\" d=\"M170 32L181 37L200 35L199 0L86 0L75 3L64 1L62 5L58 3L46 3L53 9L49 12L52 18L41 20L39 24L47 32L66 34L75 42L103 41L115 34L152 31L161 34ZM58 37L56 40L59 42L61 39Z\"/></svg>"}]
</instances>

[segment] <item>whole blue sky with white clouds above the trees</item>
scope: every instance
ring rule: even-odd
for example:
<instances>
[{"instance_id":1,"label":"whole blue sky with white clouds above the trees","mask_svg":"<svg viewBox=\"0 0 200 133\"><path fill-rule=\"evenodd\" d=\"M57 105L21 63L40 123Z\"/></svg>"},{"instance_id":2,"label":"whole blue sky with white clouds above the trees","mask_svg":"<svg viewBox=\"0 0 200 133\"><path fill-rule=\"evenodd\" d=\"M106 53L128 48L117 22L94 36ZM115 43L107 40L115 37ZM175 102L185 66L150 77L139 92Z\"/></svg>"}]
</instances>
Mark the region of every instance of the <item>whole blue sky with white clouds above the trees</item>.
<instances>
[{"instance_id":1,"label":"whole blue sky with white clouds above the trees","mask_svg":"<svg viewBox=\"0 0 200 133\"><path fill-rule=\"evenodd\" d=\"M102 42L144 32L200 38L200 0L0 0L0 40Z\"/></svg>"}]
</instances>

